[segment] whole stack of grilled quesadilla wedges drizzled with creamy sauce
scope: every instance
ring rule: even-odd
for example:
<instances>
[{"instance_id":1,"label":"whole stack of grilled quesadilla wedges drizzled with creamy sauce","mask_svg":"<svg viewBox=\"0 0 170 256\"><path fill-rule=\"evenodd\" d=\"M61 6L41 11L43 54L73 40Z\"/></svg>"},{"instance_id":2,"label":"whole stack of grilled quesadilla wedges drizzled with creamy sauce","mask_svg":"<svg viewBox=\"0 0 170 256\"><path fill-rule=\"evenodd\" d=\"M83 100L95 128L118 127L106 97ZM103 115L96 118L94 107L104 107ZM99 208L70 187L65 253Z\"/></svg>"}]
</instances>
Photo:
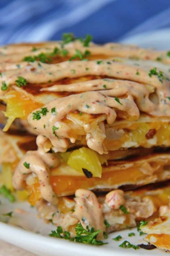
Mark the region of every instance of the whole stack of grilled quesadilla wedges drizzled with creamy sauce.
<instances>
[{"instance_id":1,"label":"whole stack of grilled quesadilla wedges drizzled with creamy sauce","mask_svg":"<svg viewBox=\"0 0 170 256\"><path fill-rule=\"evenodd\" d=\"M65 34L0 54L1 141L17 154L14 189L40 217L102 237L159 216L170 196L170 52Z\"/></svg>"}]
</instances>

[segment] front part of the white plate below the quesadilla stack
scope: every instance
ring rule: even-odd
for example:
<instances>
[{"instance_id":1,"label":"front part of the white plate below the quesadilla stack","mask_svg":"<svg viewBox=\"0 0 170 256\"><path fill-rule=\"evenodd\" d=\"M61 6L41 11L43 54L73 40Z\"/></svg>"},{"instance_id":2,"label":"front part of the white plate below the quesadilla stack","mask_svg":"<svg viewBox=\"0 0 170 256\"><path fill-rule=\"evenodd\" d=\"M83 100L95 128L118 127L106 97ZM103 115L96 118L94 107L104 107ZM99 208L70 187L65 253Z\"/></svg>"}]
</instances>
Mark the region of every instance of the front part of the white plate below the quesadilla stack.
<instances>
[{"instance_id":1,"label":"front part of the white plate below the quesadilla stack","mask_svg":"<svg viewBox=\"0 0 170 256\"><path fill-rule=\"evenodd\" d=\"M45 224L37 218L36 209L31 208L26 202L10 204L6 199L0 197L0 214L13 211L12 218L8 219L8 224L0 222L0 239L36 253L40 256L160 256L167 255L164 251L154 249L147 251L144 249L134 250L132 248L120 248L119 244L127 240L132 244L142 244L144 236L139 236L137 229L119 231L110 234L105 241L108 244L94 246L74 243L64 239L48 237L51 230L56 230L56 226ZM128 237L128 233L134 232L136 236ZM120 241L113 241L112 238L121 235Z\"/></svg>"}]
</instances>

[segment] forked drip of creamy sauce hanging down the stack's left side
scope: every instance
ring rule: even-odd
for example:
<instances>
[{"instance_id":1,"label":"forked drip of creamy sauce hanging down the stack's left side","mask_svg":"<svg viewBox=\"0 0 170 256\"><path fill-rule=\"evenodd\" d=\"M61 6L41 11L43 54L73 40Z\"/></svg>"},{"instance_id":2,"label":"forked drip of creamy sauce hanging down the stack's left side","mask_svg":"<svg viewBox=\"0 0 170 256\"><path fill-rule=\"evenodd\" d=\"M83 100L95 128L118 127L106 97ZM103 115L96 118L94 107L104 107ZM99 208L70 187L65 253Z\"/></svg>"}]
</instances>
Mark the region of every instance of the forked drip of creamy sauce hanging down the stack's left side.
<instances>
[{"instance_id":1,"label":"forked drip of creamy sauce hanging down the stack's left side","mask_svg":"<svg viewBox=\"0 0 170 256\"><path fill-rule=\"evenodd\" d=\"M60 161L53 154L44 152L43 145L46 140L47 138L38 136L38 150L28 151L20 160L13 175L13 186L17 190L24 189L26 177L33 172L37 175L40 182L42 198L51 204L57 204L57 196L50 185L50 168L57 167ZM28 169L24 166L25 162L29 164Z\"/></svg>"}]
</instances>

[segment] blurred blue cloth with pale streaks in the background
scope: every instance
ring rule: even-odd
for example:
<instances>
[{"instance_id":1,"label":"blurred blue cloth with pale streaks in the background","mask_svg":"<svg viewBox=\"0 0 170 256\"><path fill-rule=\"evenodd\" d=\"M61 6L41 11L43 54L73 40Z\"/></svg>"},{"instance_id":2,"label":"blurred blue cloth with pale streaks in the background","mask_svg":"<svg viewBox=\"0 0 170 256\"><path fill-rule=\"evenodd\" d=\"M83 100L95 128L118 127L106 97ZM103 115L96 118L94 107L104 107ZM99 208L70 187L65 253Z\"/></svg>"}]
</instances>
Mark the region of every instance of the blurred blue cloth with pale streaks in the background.
<instances>
[{"instance_id":1,"label":"blurred blue cloth with pale streaks in the background","mask_svg":"<svg viewBox=\"0 0 170 256\"><path fill-rule=\"evenodd\" d=\"M89 33L96 43L170 29L170 0L0 0L0 44Z\"/></svg>"}]
</instances>

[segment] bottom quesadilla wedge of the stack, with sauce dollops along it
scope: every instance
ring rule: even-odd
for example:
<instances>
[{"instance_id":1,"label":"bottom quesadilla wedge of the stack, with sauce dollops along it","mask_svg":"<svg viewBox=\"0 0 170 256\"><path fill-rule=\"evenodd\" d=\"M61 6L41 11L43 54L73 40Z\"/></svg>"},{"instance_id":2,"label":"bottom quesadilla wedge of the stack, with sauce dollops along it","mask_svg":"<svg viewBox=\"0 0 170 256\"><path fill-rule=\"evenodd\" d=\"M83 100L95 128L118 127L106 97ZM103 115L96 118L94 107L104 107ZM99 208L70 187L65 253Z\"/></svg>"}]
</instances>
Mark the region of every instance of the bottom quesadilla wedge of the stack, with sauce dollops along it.
<instances>
[{"instance_id":1,"label":"bottom quesadilla wedge of the stack, with sauce dollops along it","mask_svg":"<svg viewBox=\"0 0 170 256\"><path fill-rule=\"evenodd\" d=\"M57 206L41 199L36 207L40 218L62 226L71 236L75 236L75 226L79 222L85 228L88 225L96 230L101 229L102 236L103 231L110 233L135 227L141 220L154 219L159 216L162 205L169 205L169 196L168 183L162 188L145 186L125 193L113 190L106 195L95 195L88 190L78 189L74 199L61 197ZM119 209L120 204L123 204L124 211ZM110 226L105 227L104 221Z\"/></svg>"}]
</instances>

